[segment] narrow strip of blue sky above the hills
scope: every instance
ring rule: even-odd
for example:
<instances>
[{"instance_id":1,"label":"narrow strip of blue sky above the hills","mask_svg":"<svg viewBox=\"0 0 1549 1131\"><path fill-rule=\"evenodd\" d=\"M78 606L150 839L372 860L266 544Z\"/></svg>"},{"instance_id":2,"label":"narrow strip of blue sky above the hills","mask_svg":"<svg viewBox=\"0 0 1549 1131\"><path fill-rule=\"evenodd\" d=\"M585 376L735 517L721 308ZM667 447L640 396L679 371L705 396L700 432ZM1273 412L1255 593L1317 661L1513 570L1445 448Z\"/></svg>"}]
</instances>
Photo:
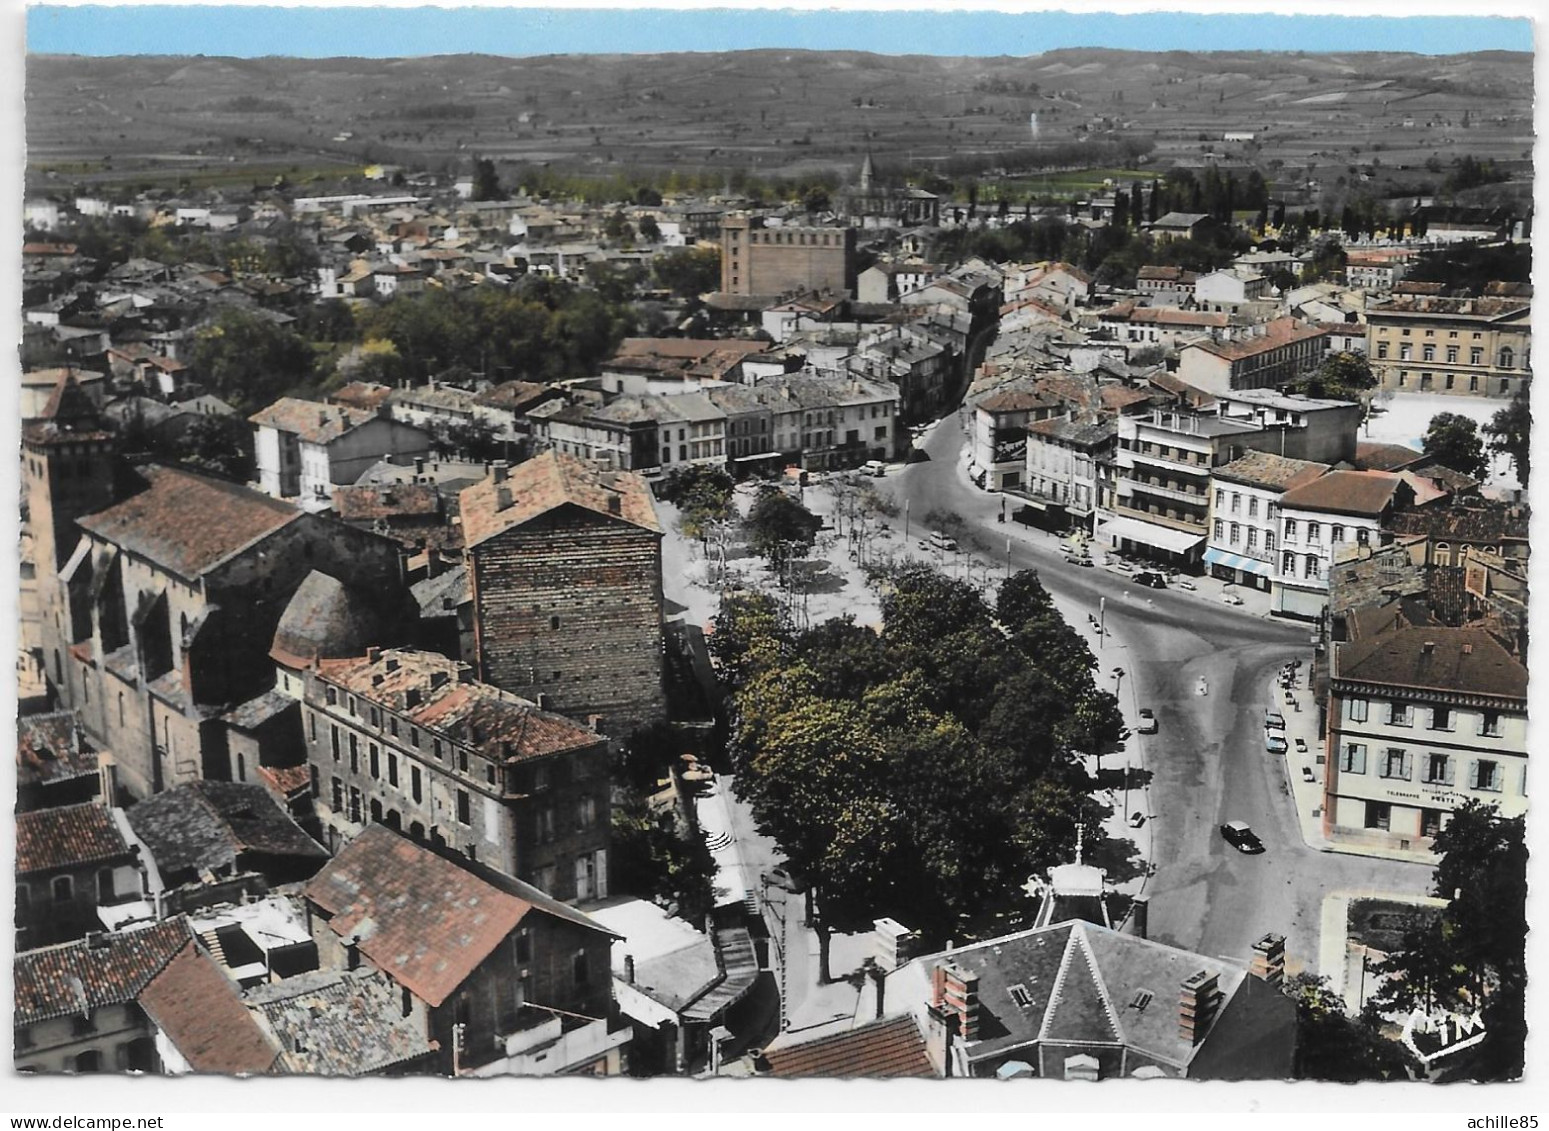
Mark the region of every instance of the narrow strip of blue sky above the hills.
<instances>
[{"instance_id":1,"label":"narrow strip of blue sky above the hills","mask_svg":"<svg viewBox=\"0 0 1549 1131\"><path fill-rule=\"evenodd\" d=\"M1532 23L1501 17L1221 12L991 12L601 8L28 9L28 50L50 54L417 56L852 48L884 54L1135 50L1532 51Z\"/></svg>"}]
</instances>

